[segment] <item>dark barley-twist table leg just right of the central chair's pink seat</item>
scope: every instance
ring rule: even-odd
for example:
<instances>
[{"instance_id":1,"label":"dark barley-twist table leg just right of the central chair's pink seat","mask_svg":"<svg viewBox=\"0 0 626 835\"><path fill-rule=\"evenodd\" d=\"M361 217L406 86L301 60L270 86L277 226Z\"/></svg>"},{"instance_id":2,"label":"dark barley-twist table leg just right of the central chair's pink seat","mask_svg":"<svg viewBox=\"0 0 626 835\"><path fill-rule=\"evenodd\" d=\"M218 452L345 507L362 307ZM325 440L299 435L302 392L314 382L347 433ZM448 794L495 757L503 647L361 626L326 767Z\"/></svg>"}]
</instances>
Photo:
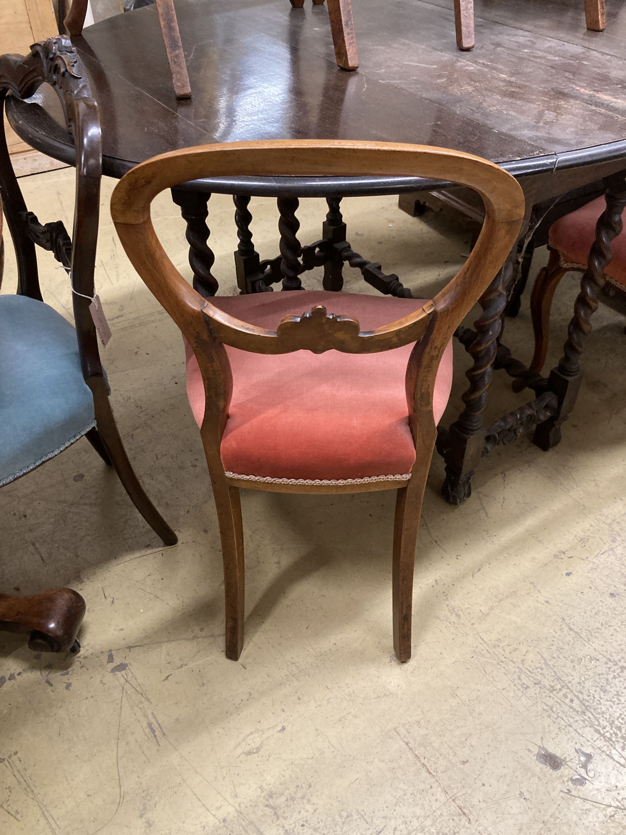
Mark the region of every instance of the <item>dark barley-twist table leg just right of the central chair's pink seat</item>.
<instances>
[{"instance_id":1,"label":"dark barley-twist table leg just right of the central chair's pink seat","mask_svg":"<svg viewBox=\"0 0 626 835\"><path fill-rule=\"evenodd\" d=\"M477 337L469 348L474 362L466 372L469 387L462 396L465 408L457 422L452 423L445 435L442 433L442 440L437 443L437 449L446 462L442 494L450 504L461 504L472 495L472 475L482 456L485 435L482 411L487 404L497 338L502 330L507 289L512 276L512 259L516 254L517 247L480 299L482 314L474 323Z\"/></svg>"}]
</instances>

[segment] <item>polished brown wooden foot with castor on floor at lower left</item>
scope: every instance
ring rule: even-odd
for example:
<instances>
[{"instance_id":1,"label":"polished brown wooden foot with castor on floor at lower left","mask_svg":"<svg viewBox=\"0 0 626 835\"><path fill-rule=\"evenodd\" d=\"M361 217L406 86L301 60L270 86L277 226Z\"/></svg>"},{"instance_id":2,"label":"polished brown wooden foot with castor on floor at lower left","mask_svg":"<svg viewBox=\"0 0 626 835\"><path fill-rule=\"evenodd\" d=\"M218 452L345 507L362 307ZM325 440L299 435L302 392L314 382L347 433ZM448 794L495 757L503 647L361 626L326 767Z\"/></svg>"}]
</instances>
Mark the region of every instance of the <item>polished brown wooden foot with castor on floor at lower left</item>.
<instances>
[{"instance_id":1,"label":"polished brown wooden foot with castor on floor at lower left","mask_svg":"<svg viewBox=\"0 0 626 835\"><path fill-rule=\"evenodd\" d=\"M0 630L30 633L36 652L78 652L76 640L85 601L72 589L51 589L38 595L0 595Z\"/></svg>"}]
</instances>

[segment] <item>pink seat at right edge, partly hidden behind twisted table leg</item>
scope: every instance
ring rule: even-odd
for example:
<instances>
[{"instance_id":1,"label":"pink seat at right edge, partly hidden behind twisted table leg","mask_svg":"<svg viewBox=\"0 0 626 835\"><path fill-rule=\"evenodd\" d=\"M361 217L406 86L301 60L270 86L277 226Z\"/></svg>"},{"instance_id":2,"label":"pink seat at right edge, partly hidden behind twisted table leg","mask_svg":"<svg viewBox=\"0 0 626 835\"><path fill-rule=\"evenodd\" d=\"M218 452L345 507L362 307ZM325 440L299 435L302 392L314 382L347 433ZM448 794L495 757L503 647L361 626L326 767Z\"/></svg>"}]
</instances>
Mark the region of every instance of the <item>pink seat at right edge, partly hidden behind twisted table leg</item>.
<instances>
[{"instance_id":1,"label":"pink seat at right edge, partly hidden behind twisted table leg","mask_svg":"<svg viewBox=\"0 0 626 835\"><path fill-rule=\"evenodd\" d=\"M550 245L568 264L587 265L589 249L596 236L596 223L606 208L603 197L556 220L550 227ZM613 261L606 275L626 285L626 230L613 240Z\"/></svg>"}]
</instances>

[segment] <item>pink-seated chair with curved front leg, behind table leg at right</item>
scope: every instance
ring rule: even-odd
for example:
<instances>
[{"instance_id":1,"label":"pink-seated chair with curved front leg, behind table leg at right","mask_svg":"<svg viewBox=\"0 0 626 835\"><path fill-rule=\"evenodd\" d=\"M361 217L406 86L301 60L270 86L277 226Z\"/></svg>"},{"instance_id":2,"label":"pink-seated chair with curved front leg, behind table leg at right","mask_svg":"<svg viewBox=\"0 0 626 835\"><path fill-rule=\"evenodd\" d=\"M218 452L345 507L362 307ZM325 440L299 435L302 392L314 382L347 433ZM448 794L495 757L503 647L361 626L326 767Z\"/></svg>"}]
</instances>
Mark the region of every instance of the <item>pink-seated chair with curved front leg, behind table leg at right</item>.
<instances>
[{"instance_id":1,"label":"pink-seated chair with curved front leg, behind table leg at right","mask_svg":"<svg viewBox=\"0 0 626 835\"><path fill-rule=\"evenodd\" d=\"M546 361L554 292L566 272L584 273L587 270L589 250L596 240L596 225L605 209L606 200L598 197L559 218L550 227L548 264L538 272L530 296L535 338L531 371L540 372ZM621 232L612 246L613 260L606 267L603 278L623 295L626 293L626 232Z\"/></svg>"}]
</instances>

